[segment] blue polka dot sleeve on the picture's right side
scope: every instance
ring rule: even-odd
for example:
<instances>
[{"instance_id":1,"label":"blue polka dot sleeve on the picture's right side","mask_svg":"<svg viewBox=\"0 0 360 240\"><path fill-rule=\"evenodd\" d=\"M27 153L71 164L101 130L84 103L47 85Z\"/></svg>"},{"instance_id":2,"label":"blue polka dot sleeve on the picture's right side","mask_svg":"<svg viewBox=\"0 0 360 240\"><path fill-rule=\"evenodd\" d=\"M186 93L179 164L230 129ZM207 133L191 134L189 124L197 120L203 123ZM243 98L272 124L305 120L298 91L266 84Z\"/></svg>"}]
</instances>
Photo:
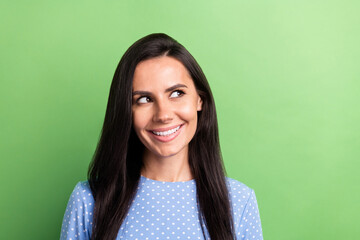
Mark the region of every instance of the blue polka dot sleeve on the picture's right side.
<instances>
[{"instance_id":1,"label":"blue polka dot sleeve on the picture's right side","mask_svg":"<svg viewBox=\"0 0 360 240\"><path fill-rule=\"evenodd\" d=\"M241 240L263 240L259 208L252 189L240 218L237 237Z\"/></svg>"}]
</instances>

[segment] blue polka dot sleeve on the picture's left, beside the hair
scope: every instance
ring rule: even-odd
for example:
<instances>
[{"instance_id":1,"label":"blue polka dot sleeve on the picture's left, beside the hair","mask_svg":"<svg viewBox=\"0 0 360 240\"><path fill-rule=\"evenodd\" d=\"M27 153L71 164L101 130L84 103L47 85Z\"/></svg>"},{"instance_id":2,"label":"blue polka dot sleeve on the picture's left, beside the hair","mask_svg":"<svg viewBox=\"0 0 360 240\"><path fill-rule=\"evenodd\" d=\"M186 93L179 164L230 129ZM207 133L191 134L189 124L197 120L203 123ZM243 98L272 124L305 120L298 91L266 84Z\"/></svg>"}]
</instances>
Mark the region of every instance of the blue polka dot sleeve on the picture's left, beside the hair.
<instances>
[{"instance_id":1,"label":"blue polka dot sleeve on the picture's left, beside the hair","mask_svg":"<svg viewBox=\"0 0 360 240\"><path fill-rule=\"evenodd\" d=\"M76 184L67 204L60 240L90 239L94 198L88 182Z\"/></svg>"}]
</instances>

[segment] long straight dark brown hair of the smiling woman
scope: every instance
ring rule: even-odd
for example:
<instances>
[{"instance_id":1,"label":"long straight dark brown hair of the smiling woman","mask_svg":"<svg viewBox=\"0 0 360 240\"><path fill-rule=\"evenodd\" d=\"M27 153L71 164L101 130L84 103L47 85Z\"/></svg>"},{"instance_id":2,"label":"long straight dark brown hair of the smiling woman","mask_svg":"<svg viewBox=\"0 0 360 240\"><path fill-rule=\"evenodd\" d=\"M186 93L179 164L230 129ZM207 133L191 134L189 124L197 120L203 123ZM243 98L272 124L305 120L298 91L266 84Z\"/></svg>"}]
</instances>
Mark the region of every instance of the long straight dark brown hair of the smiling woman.
<instances>
[{"instance_id":1,"label":"long straight dark brown hair of the smiling woman","mask_svg":"<svg viewBox=\"0 0 360 240\"><path fill-rule=\"evenodd\" d=\"M95 199L92 239L113 240L136 194L143 144L132 128L132 81L137 64L170 56L186 67L203 101L198 127L189 143L189 165L196 182L199 220L213 240L235 239L220 153L214 99L194 57L173 38L157 33L136 41L121 58L110 88L101 137L89 166L88 181Z\"/></svg>"}]
</instances>

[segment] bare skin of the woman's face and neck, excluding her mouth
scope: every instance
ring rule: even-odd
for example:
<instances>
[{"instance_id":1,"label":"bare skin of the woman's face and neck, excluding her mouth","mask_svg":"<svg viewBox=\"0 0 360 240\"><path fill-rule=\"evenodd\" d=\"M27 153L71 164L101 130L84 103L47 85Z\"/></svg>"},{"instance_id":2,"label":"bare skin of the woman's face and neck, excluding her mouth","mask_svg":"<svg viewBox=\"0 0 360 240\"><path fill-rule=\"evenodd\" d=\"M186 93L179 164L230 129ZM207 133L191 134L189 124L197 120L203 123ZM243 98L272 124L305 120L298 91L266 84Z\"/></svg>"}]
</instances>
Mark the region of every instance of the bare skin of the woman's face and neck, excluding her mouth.
<instances>
[{"instance_id":1,"label":"bare skin of the woman's face and neck, excluding her mouth","mask_svg":"<svg viewBox=\"0 0 360 240\"><path fill-rule=\"evenodd\" d=\"M193 179L188 145L197 127L202 100L184 65L162 56L140 62L133 78L133 127L145 146L147 178L177 182ZM151 130L181 126L170 141L158 139ZM161 137L160 137L161 138Z\"/></svg>"}]
</instances>

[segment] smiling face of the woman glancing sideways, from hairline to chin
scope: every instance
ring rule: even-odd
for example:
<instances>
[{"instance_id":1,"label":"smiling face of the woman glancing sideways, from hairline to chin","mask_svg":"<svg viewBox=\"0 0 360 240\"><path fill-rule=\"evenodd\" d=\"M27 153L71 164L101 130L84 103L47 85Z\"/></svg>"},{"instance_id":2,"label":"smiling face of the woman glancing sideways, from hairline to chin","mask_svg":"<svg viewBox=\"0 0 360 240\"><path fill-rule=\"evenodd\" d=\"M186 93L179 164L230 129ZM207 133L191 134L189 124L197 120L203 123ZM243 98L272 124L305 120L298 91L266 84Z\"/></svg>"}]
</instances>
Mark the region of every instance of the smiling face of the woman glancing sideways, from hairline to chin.
<instances>
[{"instance_id":1,"label":"smiling face of the woman glancing sideways, from hairline to chin","mask_svg":"<svg viewBox=\"0 0 360 240\"><path fill-rule=\"evenodd\" d=\"M184 65L172 57L140 62L133 79L133 127L150 154L187 156L202 100Z\"/></svg>"}]
</instances>

